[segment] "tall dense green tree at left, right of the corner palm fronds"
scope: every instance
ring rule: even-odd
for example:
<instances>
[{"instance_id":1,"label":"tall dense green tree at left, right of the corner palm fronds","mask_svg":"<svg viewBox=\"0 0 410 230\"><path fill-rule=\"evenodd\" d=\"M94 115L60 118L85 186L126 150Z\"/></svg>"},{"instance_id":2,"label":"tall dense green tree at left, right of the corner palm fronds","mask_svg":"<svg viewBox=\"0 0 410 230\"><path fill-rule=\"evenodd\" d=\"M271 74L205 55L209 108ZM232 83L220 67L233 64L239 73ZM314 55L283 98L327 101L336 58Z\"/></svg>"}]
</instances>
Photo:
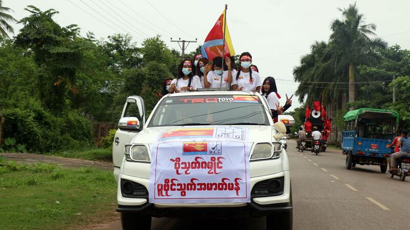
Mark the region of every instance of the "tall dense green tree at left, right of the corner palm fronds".
<instances>
[{"instance_id":1,"label":"tall dense green tree at left, right of the corner palm fronds","mask_svg":"<svg viewBox=\"0 0 410 230\"><path fill-rule=\"evenodd\" d=\"M25 10L31 14L19 21L24 25L15 43L31 49L39 66L37 87L40 100L54 114L65 110L67 95L73 90L78 66L83 61L83 51L75 42L76 25L60 27L52 16L58 12L40 11L34 6Z\"/></svg>"}]
</instances>

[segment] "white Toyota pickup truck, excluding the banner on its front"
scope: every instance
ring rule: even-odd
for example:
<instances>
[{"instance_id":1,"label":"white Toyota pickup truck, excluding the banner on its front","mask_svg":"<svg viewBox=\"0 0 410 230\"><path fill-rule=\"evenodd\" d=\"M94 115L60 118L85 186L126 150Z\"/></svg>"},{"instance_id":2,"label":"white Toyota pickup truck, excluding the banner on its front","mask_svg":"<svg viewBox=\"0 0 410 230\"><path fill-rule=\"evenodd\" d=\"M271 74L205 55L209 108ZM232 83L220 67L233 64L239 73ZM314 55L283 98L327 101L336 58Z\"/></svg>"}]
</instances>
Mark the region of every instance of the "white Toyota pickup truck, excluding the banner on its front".
<instances>
[{"instance_id":1,"label":"white Toyota pickup truck, excluding the banner on its front","mask_svg":"<svg viewBox=\"0 0 410 230\"><path fill-rule=\"evenodd\" d=\"M250 103L251 102L251 103ZM267 217L266 229L292 229L292 189L286 127L273 124L264 97L244 91L198 91L163 97L146 120L144 101L127 98L113 143L117 212L124 229L150 229L151 217ZM250 202L150 202L152 146L181 128L248 130ZM245 158L246 158L245 157Z\"/></svg>"}]
</instances>

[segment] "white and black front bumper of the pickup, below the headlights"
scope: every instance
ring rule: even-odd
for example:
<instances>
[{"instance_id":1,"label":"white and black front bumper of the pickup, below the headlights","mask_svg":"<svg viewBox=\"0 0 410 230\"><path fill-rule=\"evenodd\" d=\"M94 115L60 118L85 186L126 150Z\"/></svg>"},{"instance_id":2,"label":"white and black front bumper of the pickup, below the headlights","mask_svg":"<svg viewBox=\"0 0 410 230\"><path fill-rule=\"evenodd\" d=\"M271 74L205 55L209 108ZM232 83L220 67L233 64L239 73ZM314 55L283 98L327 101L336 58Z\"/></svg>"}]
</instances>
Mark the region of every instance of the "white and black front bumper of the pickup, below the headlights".
<instances>
[{"instance_id":1,"label":"white and black front bumper of the pickup, below the headlights","mask_svg":"<svg viewBox=\"0 0 410 230\"><path fill-rule=\"evenodd\" d=\"M144 198L123 197L118 183L117 212L138 212L141 215L154 217L180 217L180 216L265 216L272 212L289 212L292 208L290 172L283 171L271 175L251 178L251 188L257 182L284 176L283 194L270 197L251 197L249 203L149 203ZM149 188L149 179L120 174L120 178L131 180ZM120 181L120 179L118 180ZM208 215L209 214L209 215Z\"/></svg>"}]
</instances>

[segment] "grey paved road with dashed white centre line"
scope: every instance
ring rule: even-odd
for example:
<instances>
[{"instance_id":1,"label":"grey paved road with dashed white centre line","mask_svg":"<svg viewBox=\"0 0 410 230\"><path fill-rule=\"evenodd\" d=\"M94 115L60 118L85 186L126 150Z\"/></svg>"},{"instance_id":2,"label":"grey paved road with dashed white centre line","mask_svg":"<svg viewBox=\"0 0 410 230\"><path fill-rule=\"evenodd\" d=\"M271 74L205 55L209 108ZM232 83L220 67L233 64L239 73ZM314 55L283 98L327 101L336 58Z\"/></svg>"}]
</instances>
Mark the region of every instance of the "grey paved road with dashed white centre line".
<instances>
[{"instance_id":1,"label":"grey paved road with dashed white centre line","mask_svg":"<svg viewBox=\"0 0 410 230\"><path fill-rule=\"evenodd\" d=\"M345 156L328 149L298 153L289 141L294 229L410 229L410 178L391 179L377 166L344 168ZM407 212L407 213L406 213ZM203 221L203 220L202 220ZM265 219L154 218L151 229L264 229ZM216 226L220 227L216 227ZM119 220L95 229L121 229Z\"/></svg>"}]
</instances>

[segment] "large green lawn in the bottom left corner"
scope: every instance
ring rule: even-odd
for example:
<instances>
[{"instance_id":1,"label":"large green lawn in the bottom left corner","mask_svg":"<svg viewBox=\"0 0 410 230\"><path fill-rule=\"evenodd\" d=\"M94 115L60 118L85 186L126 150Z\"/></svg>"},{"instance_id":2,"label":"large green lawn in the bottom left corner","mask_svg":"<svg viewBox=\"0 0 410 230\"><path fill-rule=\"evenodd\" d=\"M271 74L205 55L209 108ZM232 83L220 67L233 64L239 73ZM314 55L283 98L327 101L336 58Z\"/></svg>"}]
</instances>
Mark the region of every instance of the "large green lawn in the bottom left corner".
<instances>
[{"instance_id":1,"label":"large green lawn in the bottom left corner","mask_svg":"<svg viewBox=\"0 0 410 230\"><path fill-rule=\"evenodd\" d=\"M78 229L115 215L111 171L0 158L0 229Z\"/></svg>"}]
</instances>

